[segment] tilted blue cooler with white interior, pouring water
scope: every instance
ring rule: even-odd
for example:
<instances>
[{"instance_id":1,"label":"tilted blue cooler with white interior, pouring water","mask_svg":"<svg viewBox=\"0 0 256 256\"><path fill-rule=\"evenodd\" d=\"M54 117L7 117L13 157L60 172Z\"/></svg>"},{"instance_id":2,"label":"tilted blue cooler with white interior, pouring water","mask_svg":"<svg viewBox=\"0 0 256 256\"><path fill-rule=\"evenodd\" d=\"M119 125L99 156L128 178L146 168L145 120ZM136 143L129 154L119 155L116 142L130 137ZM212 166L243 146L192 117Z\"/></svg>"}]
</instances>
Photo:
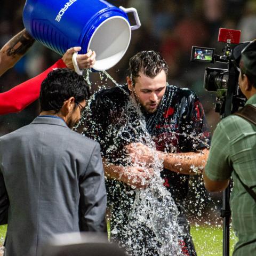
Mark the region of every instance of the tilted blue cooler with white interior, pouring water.
<instances>
[{"instance_id":1,"label":"tilted blue cooler with white interior, pouring water","mask_svg":"<svg viewBox=\"0 0 256 256\"><path fill-rule=\"evenodd\" d=\"M137 22L130 26L128 12ZM140 27L137 10L103 0L27 0L23 23L36 41L63 54L81 46L97 54L95 70L106 70L122 59L131 40L131 30Z\"/></svg>"}]
</instances>

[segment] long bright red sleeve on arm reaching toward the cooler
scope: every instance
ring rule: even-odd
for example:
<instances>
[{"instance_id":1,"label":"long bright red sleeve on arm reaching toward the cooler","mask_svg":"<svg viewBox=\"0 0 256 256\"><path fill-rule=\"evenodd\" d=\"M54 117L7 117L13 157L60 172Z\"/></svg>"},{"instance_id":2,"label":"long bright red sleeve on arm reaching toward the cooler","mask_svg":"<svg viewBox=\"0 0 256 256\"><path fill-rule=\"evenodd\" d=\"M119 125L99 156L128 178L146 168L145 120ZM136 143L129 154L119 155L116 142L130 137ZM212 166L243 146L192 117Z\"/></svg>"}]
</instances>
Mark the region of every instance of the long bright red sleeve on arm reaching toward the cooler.
<instances>
[{"instance_id":1,"label":"long bright red sleeve on arm reaching toward the cooler","mask_svg":"<svg viewBox=\"0 0 256 256\"><path fill-rule=\"evenodd\" d=\"M0 115L15 113L26 108L38 99L41 83L54 68L66 68L62 59L55 62L53 66L46 69L38 76L29 79L22 84L13 87L7 92L0 93Z\"/></svg>"}]
</instances>

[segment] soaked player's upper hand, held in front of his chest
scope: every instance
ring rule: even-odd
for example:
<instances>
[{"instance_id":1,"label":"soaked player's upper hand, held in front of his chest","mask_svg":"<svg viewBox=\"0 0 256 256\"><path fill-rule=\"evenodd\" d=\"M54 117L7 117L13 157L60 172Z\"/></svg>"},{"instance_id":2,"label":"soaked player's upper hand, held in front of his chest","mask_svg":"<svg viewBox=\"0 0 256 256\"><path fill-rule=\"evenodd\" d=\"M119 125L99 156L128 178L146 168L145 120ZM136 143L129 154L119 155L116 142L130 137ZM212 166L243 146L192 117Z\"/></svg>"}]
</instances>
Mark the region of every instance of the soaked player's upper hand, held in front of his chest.
<instances>
[{"instance_id":1,"label":"soaked player's upper hand, held in front of his chest","mask_svg":"<svg viewBox=\"0 0 256 256\"><path fill-rule=\"evenodd\" d=\"M154 154L157 151L149 148L148 146L139 143L130 143L125 147L126 153L131 158L131 162L134 164L145 165L152 164L155 161Z\"/></svg>"}]
</instances>

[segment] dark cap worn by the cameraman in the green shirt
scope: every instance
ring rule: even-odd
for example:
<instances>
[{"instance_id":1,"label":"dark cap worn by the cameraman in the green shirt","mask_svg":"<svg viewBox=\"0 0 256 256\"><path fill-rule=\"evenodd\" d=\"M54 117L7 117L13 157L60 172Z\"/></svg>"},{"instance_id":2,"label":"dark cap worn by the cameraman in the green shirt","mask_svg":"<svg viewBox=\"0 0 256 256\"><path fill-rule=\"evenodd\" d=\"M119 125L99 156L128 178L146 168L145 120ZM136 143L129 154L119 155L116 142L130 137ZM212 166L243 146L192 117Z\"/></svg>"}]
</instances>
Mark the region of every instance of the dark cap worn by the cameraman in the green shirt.
<instances>
[{"instance_id":1,"label":"dark cap worn by the cameraman in the green shirt","mask_svg":"<svg viewBox=\"0 0 256 256\"><path fill-rule=\"evenodd\" d=\"M256 39L245 46L241 52L239 67L246 75L256 77Z\"/></svg>"}]
</instances>

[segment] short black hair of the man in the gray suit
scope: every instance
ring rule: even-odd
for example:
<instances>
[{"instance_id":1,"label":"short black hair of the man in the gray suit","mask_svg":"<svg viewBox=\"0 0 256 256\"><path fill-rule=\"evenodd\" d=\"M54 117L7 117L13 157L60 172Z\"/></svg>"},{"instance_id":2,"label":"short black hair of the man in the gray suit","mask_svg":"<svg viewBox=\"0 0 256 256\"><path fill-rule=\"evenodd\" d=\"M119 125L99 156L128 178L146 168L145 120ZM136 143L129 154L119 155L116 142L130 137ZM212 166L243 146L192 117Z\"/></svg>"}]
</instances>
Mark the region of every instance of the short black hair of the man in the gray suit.
<instances>
[{"instance_id":1,"label":"short black hair of the man in the gray suit","mask_svg":"<svg viewBox=\"0 0 256 256\"><path fill-rule=\"evenodd\" d=\"M83 76L71 69L58 68L51 71L41 85L39 101L41 111L53 110L58 113L65 100L75 98L75 102L89 99L91 93Z\"/></svg>"}]
</instances>

